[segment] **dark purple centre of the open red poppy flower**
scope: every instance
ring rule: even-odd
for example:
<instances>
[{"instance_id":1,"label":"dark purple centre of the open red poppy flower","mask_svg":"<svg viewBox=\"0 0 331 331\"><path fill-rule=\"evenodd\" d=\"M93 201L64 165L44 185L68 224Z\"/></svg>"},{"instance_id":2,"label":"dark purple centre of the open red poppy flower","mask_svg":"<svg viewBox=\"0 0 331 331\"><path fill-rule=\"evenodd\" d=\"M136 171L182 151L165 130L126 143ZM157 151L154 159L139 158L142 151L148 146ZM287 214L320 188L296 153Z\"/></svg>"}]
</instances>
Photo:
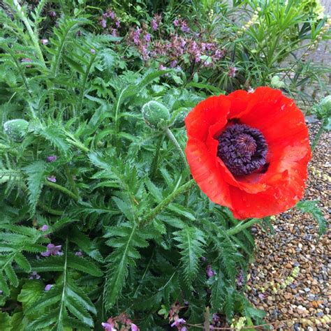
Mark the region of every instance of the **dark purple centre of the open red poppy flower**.
<instances>
[{"instance_id":1,"label":"dark purple centre of the open red poppy flower","mask_svg":"<svg viewBox=\"0 0 331 331\"><path fill-rule=\"evenodd\" d=\"M217 156L235 176L248 175L266 163L267 142L257 128L228 126L219 136Z\"/></svg>"}]
</instances>

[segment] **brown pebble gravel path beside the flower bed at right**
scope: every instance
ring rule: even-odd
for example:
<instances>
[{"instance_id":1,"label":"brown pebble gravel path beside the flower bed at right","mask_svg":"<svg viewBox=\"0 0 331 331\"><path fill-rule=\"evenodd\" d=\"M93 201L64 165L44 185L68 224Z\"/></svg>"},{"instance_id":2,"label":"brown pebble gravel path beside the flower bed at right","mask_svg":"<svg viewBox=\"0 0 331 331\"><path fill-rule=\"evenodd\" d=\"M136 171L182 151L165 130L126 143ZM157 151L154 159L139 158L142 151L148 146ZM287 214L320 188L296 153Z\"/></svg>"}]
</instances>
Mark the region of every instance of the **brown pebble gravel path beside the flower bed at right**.
<instances>
[{"instance_id":1,"label":"brown pebble gravel path beside the flower bed at right","mask_svg":"<svg viewBox=\"0 0 331 331\"><path fill-rule=\"evenodd\" d=\"M311 136L318 123L309 124ZM309 166L305 199L319 200L330 218L330 133L324 133ZM275 233L256 232L256 261L247 295L267 313L274 330L331 330L331 231L318 238L309 214L290 209L273 222ZM285 321L285 322L283 322Z\"/></svg>"}]
</instances>

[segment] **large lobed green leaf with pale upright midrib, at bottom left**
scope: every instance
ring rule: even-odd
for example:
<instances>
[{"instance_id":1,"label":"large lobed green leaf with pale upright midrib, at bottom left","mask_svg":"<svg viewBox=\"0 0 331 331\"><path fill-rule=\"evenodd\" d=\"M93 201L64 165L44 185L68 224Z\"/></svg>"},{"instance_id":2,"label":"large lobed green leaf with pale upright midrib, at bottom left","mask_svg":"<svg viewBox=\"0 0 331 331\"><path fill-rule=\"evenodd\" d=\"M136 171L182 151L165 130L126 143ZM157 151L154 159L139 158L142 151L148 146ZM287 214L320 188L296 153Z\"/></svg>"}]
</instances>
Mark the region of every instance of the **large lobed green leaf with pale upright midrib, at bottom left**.
<instances>
[{"instance_id":1,"label":"large lobed green leaf with pale upright midrib, at bottom left","mask_svg":"<svg viewBox=\"0 0 331 331\"><path fill-rule=\"evenodd\" d=\"M61 272L61 276L25 311L28 317L36 311L39 313L38 318L31 319L29 328L43 329L53 325L55 330L73 326L85 330L94 326L91 314L96 314L96 308L84 290L75 284L73 271L101 277L103 273L95 263L69 253L66 240L62 256L36 261L33 268L37 272Z\"/></svg>"}]
</instances>

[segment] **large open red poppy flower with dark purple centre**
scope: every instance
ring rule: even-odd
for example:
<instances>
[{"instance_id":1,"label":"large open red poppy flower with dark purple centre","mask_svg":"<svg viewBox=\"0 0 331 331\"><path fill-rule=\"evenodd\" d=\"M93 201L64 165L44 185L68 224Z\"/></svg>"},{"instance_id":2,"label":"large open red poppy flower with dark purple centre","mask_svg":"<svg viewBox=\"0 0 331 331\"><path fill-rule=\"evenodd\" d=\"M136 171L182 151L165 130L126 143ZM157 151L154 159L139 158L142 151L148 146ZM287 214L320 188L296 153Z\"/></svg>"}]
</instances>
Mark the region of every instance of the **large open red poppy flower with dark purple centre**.
<instances>
[{"instance_id":1,"label":"large open red poppy flower with dark purple centre","mask_svg":"<svg viewBox=\"0 0 331 331\"><path fill-rule=\"evenodd\" d=\"M193 178L237 219L284 212L302 198L311 149L304 115L281 91L212 96L185 119Z\"/></svg>"}]
</instances>

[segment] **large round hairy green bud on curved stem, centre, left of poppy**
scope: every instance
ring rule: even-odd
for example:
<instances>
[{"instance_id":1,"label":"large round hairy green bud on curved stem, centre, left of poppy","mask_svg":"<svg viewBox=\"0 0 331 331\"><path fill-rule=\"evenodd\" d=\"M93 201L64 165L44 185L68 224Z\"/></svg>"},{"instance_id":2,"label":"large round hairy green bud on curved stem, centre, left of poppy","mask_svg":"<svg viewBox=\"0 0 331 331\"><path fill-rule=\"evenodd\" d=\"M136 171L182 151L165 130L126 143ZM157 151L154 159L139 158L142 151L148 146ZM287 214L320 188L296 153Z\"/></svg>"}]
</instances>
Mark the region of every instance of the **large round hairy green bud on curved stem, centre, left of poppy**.
<instances>
[{"instance_id":1,"label":"large round hairy green bud on curved stem, centre, left of poppy","mask_svg":"<svg viewBox=\"0 0 331 331\"><path fill-rule=\"evenodd\" d=\"M165 128L168 126L170 113L162 103L149 101L142 106L142 117L152 128Z\"/></svg>"}]
</instances>

